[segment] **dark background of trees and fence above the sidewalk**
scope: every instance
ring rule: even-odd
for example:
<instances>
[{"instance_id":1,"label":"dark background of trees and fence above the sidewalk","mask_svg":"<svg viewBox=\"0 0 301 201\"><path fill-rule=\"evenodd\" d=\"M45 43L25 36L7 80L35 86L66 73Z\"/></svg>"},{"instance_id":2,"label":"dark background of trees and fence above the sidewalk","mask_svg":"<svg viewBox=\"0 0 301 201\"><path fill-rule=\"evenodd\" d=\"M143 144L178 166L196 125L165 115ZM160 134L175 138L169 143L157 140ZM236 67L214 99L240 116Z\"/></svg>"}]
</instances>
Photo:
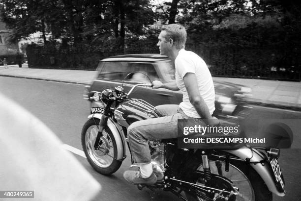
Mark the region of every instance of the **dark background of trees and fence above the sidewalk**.
<instances>
[{"instance_id":1,"label":"dark background of trees and fence above the sidewalk","mask_svg":"<svg viewBox=\"0 0 301 201\"><path fill-rule=\"evenodd\" d=\"M30 68L94 70L111 55L158 53L160 27L180 23L187 29L186 49L204 58L212 75L300 79L300 1L0 0L0 5L0 43L8 46L0 58L21 51Z\"/></svg>"}]
</instances>

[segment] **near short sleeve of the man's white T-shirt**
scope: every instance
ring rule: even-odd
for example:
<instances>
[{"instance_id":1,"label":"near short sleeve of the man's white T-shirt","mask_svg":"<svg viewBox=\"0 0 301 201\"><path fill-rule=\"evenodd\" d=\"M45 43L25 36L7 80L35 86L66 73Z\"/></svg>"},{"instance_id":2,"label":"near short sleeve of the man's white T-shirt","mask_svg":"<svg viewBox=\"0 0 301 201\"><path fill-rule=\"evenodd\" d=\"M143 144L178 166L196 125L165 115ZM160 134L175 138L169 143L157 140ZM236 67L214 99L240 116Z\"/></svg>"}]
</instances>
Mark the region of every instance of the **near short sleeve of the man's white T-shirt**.
<instances>
[{"instance_id":1,"label":"near short sleeve of the man's white T-shirt","mask_svg":"<svg viewBox=\"0 0 301 201\"><path fill-rule=\"evenodd\" d=\"M179 55L176 60L175 60L175 67L176 67L176 72L178 75L183 77L187 73L193 73L196 74L195 66L193 65L193 61L189 58L185 58L183 55Z\"/></svg>"}]
</instances>

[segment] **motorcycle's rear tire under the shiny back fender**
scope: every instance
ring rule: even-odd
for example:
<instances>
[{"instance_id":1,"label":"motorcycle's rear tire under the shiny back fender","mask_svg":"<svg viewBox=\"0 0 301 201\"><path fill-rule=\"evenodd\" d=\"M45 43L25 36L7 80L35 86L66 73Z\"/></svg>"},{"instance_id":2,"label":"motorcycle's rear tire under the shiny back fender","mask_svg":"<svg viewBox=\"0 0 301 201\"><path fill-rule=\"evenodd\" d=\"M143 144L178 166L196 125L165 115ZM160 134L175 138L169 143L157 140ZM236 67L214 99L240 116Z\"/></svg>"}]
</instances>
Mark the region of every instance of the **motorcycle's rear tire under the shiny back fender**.
<instances>
[{"instance_id":1,"label":"motorcycle's rear tire under the shiny back fender","mask_svg":"<svg viewBox=\"0 0 301 201\"><path fill-rule=\"evenodd\" d=\"M230 197L231 201L272 201L272 193L269 191L267 185L258 175L258 173L244 162L235 161L229 164L229 172L225 172L225 162L222 162L222 173L224 177L230 179L236 187L238 187L241 195L236 198ZM219 175L215 161L210 161L211 173ZM202 165L197 170L203 171ZM240 181L237 181L240 180ZM198 178L195 178L193 183L198 183ZM198 183L203 185L203 183ZM191 192L185 192L188 201L206 201L193 195ZM219 201L219 199L217 199Z\"/></svg>"}]
</instances>

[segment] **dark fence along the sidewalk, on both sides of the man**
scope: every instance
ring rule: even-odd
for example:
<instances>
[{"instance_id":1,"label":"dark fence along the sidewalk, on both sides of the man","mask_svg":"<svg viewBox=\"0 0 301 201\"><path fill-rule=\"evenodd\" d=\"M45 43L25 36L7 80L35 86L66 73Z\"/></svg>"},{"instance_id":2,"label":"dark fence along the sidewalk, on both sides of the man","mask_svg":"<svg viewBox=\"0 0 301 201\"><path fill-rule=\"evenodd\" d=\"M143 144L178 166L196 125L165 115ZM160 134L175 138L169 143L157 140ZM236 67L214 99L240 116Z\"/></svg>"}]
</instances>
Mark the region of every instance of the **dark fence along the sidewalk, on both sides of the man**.
<instances>
[{"instance_id":1,"label":"dark fence along the sidewalk, on both sides of the man","mask_svg":"<svg viewBox=\"0 0 301 201\"><path fill-rule=\"evenodd\" d=\"M191 46L186 49L199 54L208 64L212 75L301 80L300 58L284 54L277 49L200 48ZM146 53L149 50L130 50L125 53ZM123 52L28 53L28 63L30 68L95 70L99 60L120 54L123 54Z\"/></svg>"}]
</instances>

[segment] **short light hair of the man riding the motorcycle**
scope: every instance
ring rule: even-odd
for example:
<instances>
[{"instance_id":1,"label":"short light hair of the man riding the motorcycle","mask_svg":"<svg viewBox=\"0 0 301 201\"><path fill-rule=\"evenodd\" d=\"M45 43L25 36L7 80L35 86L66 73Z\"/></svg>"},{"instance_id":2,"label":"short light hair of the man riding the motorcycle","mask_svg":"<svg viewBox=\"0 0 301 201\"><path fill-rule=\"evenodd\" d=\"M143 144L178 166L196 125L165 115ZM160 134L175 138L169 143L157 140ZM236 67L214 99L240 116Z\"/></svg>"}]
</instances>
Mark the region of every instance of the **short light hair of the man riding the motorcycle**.
<instances>
[{"instance_id":1,"label":"short light hair of the man riding the motorcycle","mask_svg":"<svg viewBox=\"0 0 301 201\"><path fill-rule=\"evenodd\" d=\"M187 33L184 26L179 24L163 25L161 31L166 31L165 39L173 39L177 49L185 47Z\"/></svg>"}]
</instances>

